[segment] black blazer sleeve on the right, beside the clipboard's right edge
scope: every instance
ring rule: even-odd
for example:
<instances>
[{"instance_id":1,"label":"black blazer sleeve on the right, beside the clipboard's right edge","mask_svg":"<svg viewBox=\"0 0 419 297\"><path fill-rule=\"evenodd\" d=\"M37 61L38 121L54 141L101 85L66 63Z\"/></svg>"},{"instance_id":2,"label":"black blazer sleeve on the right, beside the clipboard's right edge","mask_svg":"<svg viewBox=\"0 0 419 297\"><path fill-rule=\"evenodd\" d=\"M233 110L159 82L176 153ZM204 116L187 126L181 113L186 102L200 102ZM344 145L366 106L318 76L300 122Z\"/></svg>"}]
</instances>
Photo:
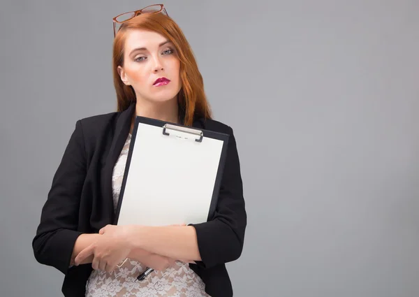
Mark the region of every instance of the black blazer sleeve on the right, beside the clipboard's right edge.
<instances>
[{"instance_id":1,"label":"black blazer sleeve on the right, beside the clipboard's right edge","mask_svg":"<svg viewBox=\"0 0 419 297\"><path fill-rule=\"evenodd\" d=\"M203 268L235 261L242 254L247 214L244 208L240 161L233 129L230 138L216 212L209 222L191 224L196 229Z\"/></svg>"}]
</instances>

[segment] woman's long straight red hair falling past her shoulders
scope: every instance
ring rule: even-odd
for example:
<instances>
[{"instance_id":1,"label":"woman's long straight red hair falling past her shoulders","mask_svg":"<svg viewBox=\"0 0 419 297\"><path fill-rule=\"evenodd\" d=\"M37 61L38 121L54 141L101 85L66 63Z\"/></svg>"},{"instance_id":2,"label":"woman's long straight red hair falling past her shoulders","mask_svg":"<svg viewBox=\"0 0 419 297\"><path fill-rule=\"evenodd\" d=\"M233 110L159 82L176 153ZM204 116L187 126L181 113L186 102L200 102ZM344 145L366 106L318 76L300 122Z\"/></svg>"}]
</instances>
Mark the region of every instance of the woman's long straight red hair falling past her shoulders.
<instances>
[{"instance_id":1,"label":"woman's long straight red hair falling past her shoulders","mask_svg":"<svg viewBox=\"0 0 419 297\"><path fill-rule=\"evenodd\" d=\"M204 117L211 119L211 110L204 92L203 77L186 37L172 18L163 13L145 13L128 22L124 22L115 36L113 43L112 71L115 91L117 93L117 110L123 111L136 102L133 87L122 82L118 66L124 65L124 45L129 29L147 29L155 31L175 45L180 61L180 79L182 89L177 96L179 116L186 126L191 126L193 119Z\"/></svg>"}]
</instances>

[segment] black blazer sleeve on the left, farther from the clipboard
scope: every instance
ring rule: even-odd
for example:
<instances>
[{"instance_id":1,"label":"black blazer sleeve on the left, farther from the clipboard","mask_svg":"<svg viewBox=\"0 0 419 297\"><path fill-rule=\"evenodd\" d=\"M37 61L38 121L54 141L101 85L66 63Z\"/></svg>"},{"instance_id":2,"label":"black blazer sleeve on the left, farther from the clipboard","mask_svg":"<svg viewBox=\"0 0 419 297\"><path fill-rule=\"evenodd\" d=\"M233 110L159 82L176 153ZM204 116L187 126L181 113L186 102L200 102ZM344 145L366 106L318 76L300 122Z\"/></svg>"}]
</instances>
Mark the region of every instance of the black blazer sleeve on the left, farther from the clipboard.
<instances>
[{"instance_id":1,"label":"black blazer sleeve on the left, farther from the clipboard","mask_svg":"<svg viewBox=\"0 0 419 297\"><path fill-rule=\"evenodd\" d=\"M36 261L66 274L75 240L80 236L78 209L87 171L84 136L80 120L75 124L52 187L41 212L32 247Z\"/></svg>"}]
</instances>

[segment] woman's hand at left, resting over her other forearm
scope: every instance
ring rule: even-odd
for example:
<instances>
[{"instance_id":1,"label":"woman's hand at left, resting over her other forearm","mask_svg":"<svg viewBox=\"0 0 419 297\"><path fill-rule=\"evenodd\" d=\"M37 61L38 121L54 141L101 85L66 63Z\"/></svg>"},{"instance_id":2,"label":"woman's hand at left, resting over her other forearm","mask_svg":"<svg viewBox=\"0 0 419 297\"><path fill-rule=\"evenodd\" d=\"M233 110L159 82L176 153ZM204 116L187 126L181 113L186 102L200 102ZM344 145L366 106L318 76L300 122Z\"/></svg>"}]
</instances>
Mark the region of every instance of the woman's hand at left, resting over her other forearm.
<instances>
[{"instance_id":1,"label":"woman's hand at left, resting over her other forearm","mask_svg":"<svg viewBox=\"0 0 419 297\"><path fill-rule=\"evenodd\" d=\"M84 259L93 255L91 267L95 270L110 272L126 259L132 249L128 244L129 227L108 225L105 228L99 232L101 236L96 242L83 249L75 257L75 265L79 265Z\"/></svg>"}]
</instances>

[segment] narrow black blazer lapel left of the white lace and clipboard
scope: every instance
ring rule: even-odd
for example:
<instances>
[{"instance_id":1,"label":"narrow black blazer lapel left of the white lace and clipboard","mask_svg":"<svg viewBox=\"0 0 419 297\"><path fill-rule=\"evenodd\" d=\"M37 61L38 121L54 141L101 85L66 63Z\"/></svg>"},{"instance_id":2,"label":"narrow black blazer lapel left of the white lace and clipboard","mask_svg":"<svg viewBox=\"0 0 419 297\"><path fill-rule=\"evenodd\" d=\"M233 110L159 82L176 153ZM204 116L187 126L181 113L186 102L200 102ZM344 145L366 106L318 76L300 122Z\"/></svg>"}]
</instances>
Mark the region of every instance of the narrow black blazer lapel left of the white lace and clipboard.
<instances>
[{"instance_id":1,"label":"narrow black blazer lapel left of the white lace and clipboard","mask_svg":"<svg viewBox=\"0 0 419 297\"><path fill-rule=\"evenodd\" d=\"M124 147L126 138L131 129L131 119L135 112L135 103L132 103L126 110L124 110L117 119L115 126L115 132L113 134L112 143L110 144L110 150L108 157L103 167L102 175L102 189L103 189L103 202L108 205L108 218L110 222L105 224L115 224L115 211L113 208L112 198L112 173L115 163L121 154L122 148Z\"/></svg>"}]
</instances>

